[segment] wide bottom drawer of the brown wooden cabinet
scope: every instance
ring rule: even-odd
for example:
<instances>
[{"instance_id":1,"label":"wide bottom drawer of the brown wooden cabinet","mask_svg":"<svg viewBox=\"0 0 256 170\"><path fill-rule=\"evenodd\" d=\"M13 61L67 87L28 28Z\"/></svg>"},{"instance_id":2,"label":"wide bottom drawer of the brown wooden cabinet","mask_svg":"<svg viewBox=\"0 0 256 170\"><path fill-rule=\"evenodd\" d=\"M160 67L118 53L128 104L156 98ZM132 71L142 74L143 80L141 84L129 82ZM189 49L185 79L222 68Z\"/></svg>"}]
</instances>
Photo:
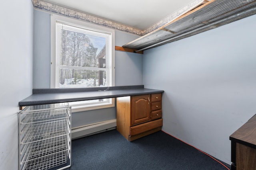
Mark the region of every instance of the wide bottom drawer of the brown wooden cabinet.
<instances>
[{"instance_id":1,"label":"wide bottom drawer of the brown wooden cabinet","mask_svg":"<svg viewBox=\"0 0 256 170\"><path fill-rule=\"evenodd\" d=\"M143 133L163 125L163 119L157 119L154 121L149 121L147 123L142 123L140 125L130 127L130 136Z\"/></svg>"}]
</instances>

